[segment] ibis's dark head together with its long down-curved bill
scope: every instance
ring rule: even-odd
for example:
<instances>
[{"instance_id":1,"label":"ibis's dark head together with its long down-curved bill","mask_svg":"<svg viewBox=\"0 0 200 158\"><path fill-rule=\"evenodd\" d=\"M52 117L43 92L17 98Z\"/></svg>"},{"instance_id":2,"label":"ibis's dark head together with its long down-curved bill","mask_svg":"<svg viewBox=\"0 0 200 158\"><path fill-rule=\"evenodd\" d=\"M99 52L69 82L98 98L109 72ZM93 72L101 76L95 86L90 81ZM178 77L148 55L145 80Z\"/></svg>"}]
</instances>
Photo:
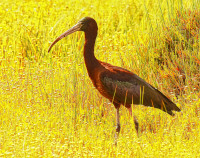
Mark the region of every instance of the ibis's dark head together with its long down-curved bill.
<instances>
[{"instance_id":1,"label":"ibis's dark head together with its long down-curved bill","mask_svg":"<svg viewBox=\"0 0 200 158\"><path fill-rule=\"evenodd\" d=\"M93 18L85 17L81 19L76 25L74 25L72 28L61 34L58 38L55 39L55 41L51 44L51 46L48 49L48 52L50 52L51 48L62 38L66 37L67 35L70 35L76 31L84 31L85 33L92 33L92 31L98 30L97 23Z\"/></svg>"}]
</instances>

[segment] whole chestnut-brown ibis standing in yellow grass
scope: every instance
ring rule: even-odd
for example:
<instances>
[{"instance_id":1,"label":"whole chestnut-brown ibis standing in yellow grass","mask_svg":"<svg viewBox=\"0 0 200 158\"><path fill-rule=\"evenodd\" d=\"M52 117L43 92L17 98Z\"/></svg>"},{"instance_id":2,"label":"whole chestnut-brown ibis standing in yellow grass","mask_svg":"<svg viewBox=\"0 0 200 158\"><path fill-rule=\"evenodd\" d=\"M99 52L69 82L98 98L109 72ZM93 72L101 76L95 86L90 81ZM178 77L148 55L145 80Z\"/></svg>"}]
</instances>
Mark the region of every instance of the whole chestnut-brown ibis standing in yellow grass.
<instances>
[{"instance_id":1,"label":"whole chestnut-brown ibis standing in yellow grass","mask_svg":"<svg viewBox=\"0 0 200 158\"><path fill-rule=\"evenodd\" d=\"M176 106L163 93L144 81L133 72L121 67L98 60L94 55L95 41L98 32L96 21L91 17L82 18L76 25L57 37L50 45L51 48L62 38L76 31L85 33L84 60L88 75L94 87L107 98L116 108L116 133L120 133L119 109L124 105L134 119L135 130L138 133L139 123L132 114L132 105L144 105L158 108L171 116L173 111L180 112Z\"/></svg>"}]
</instances>

